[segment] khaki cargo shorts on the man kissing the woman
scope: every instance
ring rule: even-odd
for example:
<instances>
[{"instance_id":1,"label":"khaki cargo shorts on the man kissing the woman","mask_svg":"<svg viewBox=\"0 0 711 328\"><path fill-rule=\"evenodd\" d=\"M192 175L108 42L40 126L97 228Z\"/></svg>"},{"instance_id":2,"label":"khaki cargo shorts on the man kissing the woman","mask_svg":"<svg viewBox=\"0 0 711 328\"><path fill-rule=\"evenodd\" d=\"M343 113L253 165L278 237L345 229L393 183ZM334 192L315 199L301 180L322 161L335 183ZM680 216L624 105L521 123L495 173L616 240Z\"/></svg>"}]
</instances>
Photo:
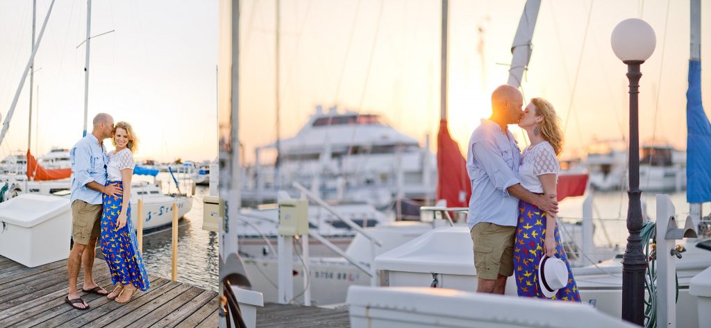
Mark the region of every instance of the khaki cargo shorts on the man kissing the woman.
<instances>
[{"instance_id":1,"label":"khaki cargo shorts on the man kissing the woman","mask_svg":"<svg viewBox=\"0 0 711 328\"><path fill-rule=\"evenodd\" d=\"M498 275L513 275L515 226L479 222L471 229L474 242L474 268L478 278L496 280Z\"/></svg>"}]
</instances>

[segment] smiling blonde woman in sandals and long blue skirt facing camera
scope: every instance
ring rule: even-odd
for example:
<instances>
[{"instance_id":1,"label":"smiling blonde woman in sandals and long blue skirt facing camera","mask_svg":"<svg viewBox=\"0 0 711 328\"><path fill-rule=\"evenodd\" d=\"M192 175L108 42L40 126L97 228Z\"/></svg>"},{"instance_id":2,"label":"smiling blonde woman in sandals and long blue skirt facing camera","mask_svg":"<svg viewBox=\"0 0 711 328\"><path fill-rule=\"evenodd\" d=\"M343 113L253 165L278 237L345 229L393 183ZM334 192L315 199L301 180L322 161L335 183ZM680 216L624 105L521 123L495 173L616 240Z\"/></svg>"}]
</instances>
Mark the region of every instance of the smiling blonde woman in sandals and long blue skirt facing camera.
<instances>
[{"instance_id":1,"label":"smiling blonde woman in sandals and long blue skirt facing camera","mask_svg":"<svg viewBox=\"0 0 711 328\"><path fill-rule=\"evenodd\" d=\"M112 143L116 150L109 153L106 183L118 184L123 188L123 195L103 197L101 250L115 285L107 297L125 303L133 299L137 290L149 288L131 220L131 177L136 166L133 153L137 151L138 139L130 124L119 122L114 129Z\"/></svg>"}]
</instances>

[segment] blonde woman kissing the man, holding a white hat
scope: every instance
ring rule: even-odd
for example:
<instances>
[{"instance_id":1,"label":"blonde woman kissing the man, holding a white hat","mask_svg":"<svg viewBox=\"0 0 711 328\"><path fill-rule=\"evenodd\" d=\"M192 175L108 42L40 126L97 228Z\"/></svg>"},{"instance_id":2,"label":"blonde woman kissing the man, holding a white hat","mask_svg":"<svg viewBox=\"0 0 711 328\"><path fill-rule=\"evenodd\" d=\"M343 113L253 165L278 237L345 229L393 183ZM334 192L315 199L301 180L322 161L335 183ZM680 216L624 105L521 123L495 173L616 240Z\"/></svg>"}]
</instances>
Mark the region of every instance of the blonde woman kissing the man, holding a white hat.
<instances>
[{"instance_id":1,"label":"blonde woman kissing the man, holding a white hat","mask_svg":"<svg viewBox=\"0 0 711 328\"><path fill-rule=\"evenodd\" d=\"M521 155L521 165L518 169L521 185L530 192L555 199L560 167L556 156L560 155L563 144L560 119L555 114L555 109L545 99L531 99L518 121L518 126L528 133L530 140L530 146L525 148ZM550 298L580 302L570 263L560 244L555 214L542 211L521 200L518 202L515 238L513 266L519 296L549 298L544 295L537 281L538 263L543 256L548 256L560 258L568 270L567 285L557 290ZM552 290L548 292L550 294Z\"/></svg>"}]
</instances>

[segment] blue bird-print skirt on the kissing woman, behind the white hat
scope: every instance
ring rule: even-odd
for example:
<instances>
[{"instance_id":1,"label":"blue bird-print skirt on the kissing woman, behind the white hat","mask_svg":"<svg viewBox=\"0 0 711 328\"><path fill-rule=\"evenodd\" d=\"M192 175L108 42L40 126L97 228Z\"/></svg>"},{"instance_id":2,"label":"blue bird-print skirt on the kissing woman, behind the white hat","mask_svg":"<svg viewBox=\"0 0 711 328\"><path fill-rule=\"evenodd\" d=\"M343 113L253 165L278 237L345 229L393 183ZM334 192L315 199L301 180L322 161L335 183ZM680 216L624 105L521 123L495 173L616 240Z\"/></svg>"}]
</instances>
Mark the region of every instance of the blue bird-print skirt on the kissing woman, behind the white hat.
<instances>
[{"instance_id":1,"label":"blue bird-print skirt on the kissing woman, behind the white hat","mask_svg":"<svg viewBox=\"0 0 711 328\"><path fill-rule=\"evenodd\" d=\"M513 246L513 268L516 277L518 296L547 298L538 287L538 263L545 255L545 221L546 213L538 207L523 200L518 202L518 222L516 225L516 241ZM565 250L560 244L558 226L555 226L555 257L565 262L568 268L568 283L560 288L552 300L567 300L580 302L580 293L573 278L572 270Z\"/></svg>"}]
</instances>

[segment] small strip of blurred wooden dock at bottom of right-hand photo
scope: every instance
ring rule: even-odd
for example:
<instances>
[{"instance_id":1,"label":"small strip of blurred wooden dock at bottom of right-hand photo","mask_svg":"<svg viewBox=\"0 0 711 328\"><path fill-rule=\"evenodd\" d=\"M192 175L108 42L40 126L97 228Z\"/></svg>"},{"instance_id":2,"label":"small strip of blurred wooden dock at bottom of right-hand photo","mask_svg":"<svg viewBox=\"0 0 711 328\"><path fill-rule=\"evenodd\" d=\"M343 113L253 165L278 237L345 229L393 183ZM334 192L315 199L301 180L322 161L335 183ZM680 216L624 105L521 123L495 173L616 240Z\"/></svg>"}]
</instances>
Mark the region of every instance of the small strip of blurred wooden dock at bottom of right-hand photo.
<instances>
[{"instance_id":1,"label":"small strip of blurred wooden dock at bottom of right-hand photo","mask_svg":"<svg viewBox=\"0 0 711 328\"><path fill-rule=\"evenodd\" d=\"M257 328L348 328L348 309L331 310L303 305L264 303L257 307Z\"/></svg>"}]
</instances>

